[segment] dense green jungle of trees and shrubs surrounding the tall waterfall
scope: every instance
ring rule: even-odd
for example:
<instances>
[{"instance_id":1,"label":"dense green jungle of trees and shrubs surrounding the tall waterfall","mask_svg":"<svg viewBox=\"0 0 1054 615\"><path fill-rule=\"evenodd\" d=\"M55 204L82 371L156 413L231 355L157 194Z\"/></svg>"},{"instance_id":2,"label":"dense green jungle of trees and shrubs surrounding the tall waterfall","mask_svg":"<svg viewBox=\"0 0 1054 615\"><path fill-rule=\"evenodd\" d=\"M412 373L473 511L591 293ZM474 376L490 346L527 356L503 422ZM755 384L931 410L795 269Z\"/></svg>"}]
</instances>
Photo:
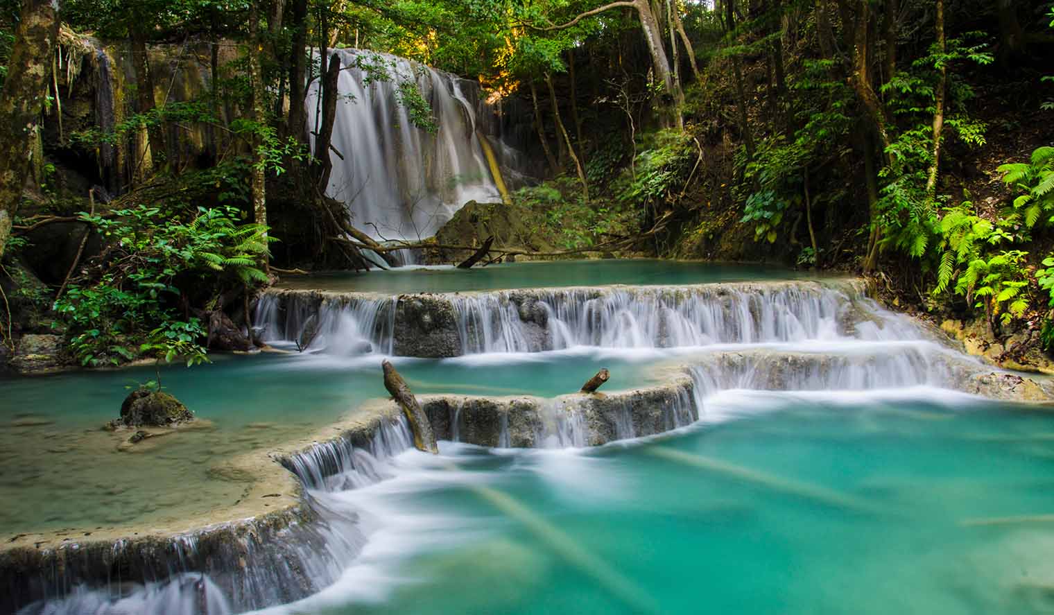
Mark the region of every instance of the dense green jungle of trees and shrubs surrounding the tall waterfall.
<instances>
[{"instance_id":1,"label":"dense green jungle of trees and shrubs surrounding the tall waterfall","mask_svg":"<svg viewBox=\"0 0 1054 615\"><path fill-rule=\"evenodd\" d=\"M253 346L275 275L367 267L379 246L324 191L332 114L305 110L311 88L335 104L319 51L340 47L525 117L520 247L861 271L1054 343L1049 1L8 0L3 344L55 331L83 364L195 362ZM414 75L358 58L438 128Z\"/></svg>"}]
</instances>

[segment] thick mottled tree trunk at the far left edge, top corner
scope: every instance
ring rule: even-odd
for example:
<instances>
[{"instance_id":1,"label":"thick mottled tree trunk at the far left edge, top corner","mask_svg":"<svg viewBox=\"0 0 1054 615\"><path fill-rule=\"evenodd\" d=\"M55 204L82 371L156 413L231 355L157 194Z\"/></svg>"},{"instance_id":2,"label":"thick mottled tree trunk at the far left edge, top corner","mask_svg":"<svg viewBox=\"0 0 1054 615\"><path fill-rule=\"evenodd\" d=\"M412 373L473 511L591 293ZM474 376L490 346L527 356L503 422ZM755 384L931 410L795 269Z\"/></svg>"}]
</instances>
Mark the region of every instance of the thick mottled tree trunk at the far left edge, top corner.
<instances>
[{"instance_id":1,"label":"thick mottled tree trunk at the far left edge, top corner","mask_svg":"<svg viewBox=\"0 0 1054 615\"><path fill-rule=\"evenodd\" d=\"M47 97L48 58L58 33L50 0L23 0L0 94L0 257L33 162L31 144Z\"/></svg>"}]
</instances>

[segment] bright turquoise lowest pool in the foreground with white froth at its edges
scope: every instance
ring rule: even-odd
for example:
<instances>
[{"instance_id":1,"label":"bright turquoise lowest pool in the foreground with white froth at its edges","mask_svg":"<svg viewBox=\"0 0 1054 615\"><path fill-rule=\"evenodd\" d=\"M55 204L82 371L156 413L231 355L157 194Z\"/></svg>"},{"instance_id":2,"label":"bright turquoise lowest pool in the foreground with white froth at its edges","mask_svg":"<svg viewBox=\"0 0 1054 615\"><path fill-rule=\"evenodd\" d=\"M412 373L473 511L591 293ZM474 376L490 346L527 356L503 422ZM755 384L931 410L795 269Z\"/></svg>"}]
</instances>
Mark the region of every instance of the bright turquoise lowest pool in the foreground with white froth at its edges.
<instances>
[{"instance_id":1,"label":"bright turquoise lowest pool in the foreground with white froth at its edges","mask_svg":"<svg viewBox=\"0 0 1054 615\"><path fill-rule=\"evenodd\" d=\"M936 391L711 402L745 416L586 452L404 454L391 483L323 496L376 519L373 549L274 611L1054 611L1054 520L1004 519L1054 513L1051 414Z\"/></svg>"}]
</instances>

